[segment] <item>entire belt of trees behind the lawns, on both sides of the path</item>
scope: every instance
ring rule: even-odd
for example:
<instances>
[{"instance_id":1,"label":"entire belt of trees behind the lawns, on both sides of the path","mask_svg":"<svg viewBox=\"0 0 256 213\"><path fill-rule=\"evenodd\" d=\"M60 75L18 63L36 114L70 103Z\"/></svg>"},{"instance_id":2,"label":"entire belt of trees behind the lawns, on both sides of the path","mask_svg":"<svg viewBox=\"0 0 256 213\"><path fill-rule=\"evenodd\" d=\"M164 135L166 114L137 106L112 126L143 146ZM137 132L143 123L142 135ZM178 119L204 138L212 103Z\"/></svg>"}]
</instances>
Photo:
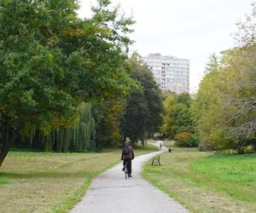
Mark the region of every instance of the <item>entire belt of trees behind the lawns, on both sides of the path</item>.
<instances>
[{"instance_id":1,"label":"entire belt of trees behind the lawns, on both sides of the path","mask_svg":"<svg viewBox=\"0 0 256 213\"><path fill-rule=\"evenodd\" d=\"M0 2L0 166L14 144L55 152L142 144L256 150L255 4L236 48L211 55L197 94L162 94L140 55L135 23L109 0L80 19L74 0Z\"/></svg>"}]
</instances>

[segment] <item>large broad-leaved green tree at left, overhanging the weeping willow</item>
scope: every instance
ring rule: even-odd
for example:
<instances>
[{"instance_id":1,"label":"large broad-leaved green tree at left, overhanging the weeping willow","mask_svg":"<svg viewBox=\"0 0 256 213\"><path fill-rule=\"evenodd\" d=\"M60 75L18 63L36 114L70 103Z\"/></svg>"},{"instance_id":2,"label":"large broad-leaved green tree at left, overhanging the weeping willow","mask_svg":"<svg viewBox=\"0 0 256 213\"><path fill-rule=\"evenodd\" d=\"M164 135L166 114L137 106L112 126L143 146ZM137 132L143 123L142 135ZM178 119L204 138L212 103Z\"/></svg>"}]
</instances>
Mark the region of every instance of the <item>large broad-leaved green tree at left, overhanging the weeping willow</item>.
<instances>
[{"instance_id":1,"label":"large broad-leaved green tree at left, overhanging the weeping willow","mask_svg":"<svg viewBox=\"0 0 256 213\"><path fill-rule=\"evenodd\" d=\"M18 135L70 126L81 101L129 93L133 20L109 4L80 20L74 0L0 2L0 166Z\"/></svg>"}]
</instances>

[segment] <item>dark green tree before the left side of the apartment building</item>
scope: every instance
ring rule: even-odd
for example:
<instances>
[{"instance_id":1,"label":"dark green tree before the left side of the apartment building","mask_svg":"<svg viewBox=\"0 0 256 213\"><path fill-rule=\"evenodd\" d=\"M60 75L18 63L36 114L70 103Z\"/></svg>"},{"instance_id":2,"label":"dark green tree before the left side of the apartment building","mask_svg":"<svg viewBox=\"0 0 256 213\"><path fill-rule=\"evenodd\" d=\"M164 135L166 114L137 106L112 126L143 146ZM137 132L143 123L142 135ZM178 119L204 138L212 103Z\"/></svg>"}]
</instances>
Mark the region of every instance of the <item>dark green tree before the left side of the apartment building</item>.
<instances>
[{"instance_id":1,"label":"dark green tree before the left side of the apartment building","mask_svg":"<svg viewBox=\"0 0 256 213\"><path fill-rule=\"evenodd\" d=\"M141 89L131 92L121 123L123 137L129 137L132 144L144 141L160 129L163 110L160 89L154 82L152 72L134 54L130 60L131 78L137 80Z\"/></svg>"}]
</instances>

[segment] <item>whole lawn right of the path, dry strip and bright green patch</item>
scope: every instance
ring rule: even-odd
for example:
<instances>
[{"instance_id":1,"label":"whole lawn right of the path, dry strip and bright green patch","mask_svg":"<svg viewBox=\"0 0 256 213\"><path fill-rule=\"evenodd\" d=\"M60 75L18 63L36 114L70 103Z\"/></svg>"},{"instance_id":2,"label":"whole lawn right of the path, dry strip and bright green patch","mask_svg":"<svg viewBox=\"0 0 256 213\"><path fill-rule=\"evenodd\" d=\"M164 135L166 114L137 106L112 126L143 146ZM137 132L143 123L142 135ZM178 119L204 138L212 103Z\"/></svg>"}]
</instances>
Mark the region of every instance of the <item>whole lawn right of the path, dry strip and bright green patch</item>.
<instances>
[{"instance_id":1,"label":"whole lawn right of the path, dry strip and bright green patch","mask_svg":"<svg viewBox=\"0 0 256 213\"><path fill-rule=\"evenodd\" d=\"M256 212L256 155L213 155L174 147L143 176L190 212Z\"/></svg>"}]
</instances>

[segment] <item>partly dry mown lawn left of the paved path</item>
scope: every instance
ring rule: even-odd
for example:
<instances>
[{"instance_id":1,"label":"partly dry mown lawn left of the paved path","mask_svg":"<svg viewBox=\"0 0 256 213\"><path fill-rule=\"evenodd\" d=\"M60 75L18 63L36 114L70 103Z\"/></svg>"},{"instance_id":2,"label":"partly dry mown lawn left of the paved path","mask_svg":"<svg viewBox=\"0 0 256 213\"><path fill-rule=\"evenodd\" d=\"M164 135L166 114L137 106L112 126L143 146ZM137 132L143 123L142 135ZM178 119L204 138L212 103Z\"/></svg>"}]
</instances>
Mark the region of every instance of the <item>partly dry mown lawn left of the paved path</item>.
<instances>
[{"instance_id":1,"label":"partly dry mown lawn left of the paved path","mask_svg":"<svg viewBox=\"0 0 256 213\"><path fill-rule=\"evenodd\" d=\"M157 150L148 145L135 155ZM0 169L0 211L67 212L93 177L120 162L120 153L10 152Z\"/></svg>"}]
</instances>

